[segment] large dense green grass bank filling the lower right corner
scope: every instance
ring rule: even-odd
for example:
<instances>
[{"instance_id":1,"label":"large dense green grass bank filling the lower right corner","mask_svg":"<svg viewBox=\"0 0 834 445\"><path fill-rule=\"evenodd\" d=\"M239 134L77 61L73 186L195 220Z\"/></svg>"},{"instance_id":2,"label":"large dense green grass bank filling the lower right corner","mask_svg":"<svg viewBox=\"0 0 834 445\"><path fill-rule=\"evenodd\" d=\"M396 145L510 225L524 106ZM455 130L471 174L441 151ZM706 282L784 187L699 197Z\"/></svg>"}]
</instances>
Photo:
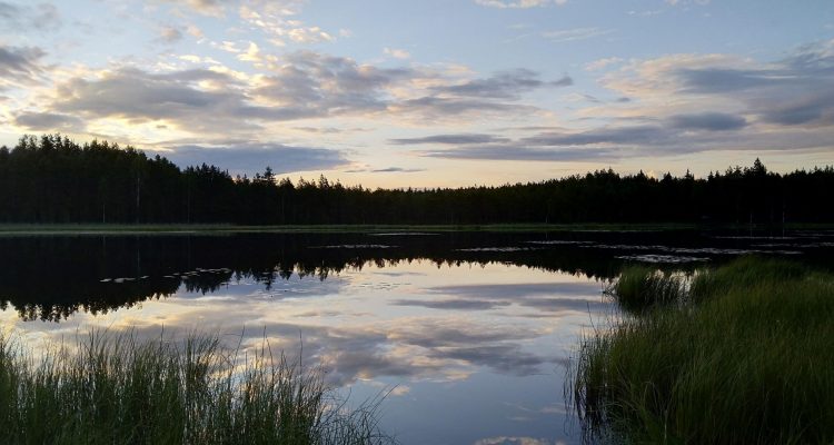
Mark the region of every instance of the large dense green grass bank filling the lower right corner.
<instances>
[{"instance_id":1,"label":"large dense green grass bank filling the lower right corner","mask_svg":"<svg viewBox=\"0 0 834 445\"><path fill-rule=\"evenodd\" d=\"M585 439L834 443L834 276L742 258L687 294L583 339Z\"/></svg>"}]
</instances>

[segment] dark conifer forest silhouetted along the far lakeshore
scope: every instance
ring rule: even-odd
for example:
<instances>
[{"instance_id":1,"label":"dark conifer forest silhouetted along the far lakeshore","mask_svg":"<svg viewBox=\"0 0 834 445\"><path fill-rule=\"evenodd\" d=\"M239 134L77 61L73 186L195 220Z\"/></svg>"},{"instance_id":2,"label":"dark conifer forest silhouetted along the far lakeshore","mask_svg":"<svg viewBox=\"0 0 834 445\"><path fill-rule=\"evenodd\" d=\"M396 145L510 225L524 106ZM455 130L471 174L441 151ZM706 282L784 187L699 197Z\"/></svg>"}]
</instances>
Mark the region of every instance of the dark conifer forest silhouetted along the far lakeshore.
<instances>
[{"instance_id":1,"label":"dark conifer forest silhouetted along the far lakeshore","mask_svg":"<svg viewBox=\"0 0 834 445\"><path fill-rule=\"evenodd\" d=\"M756 159L707 178L610 169L497 187L368 189L252 178L60 135L0 148L0 222L513 224L834 222L834 168L780 175Z\"/></svg>"}]
</instances>

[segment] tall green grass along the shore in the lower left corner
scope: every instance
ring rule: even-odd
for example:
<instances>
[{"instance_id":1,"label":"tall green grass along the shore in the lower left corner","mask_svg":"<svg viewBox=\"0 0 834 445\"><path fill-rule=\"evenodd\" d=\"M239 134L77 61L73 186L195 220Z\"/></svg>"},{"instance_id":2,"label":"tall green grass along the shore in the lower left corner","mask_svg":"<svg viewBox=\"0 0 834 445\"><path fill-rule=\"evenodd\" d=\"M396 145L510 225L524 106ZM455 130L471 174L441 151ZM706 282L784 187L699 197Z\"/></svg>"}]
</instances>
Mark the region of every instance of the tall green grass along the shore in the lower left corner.
<instances>
[{"instance_id":1,"label":"tall green grass along the shore in the lower left corner","mask_svg":"<svg viewBox=\"0 0 834 445\"><path fill-rule=\"evenodd\" d=\"M75 347L70 347L75 346ZM348 412L318 368L239 359L218 336L93 332L42 356L0 336L4 444L378 444L377 403Z\"/></svg>"}]
</instances>

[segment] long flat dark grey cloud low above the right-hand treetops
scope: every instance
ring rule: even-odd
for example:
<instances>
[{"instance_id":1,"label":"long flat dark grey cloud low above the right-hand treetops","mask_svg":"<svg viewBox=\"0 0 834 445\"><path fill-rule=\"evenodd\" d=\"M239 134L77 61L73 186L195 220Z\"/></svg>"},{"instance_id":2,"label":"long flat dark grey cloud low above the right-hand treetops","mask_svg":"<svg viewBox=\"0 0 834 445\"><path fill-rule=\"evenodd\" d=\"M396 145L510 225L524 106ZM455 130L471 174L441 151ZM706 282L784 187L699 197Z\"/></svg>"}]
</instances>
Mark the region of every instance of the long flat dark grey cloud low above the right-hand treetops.
<instances>
[{"instance_id":1,"label":"long flat dark grey cloud low above the right-hand treetops","mask_svg":"<svg viewBox=\"0 0 834 445\"><path fill-rule=\"evenodd\" d=\"M639 108L638 108L639 110ZM641 116L614 120L583 131L533 127L544 130L519 138L490 135L434 135L391 139L398 145L450 145L454 148L418 150L415 155L446 159L518 161L600 161L635 156L667 156L709 150L830 149L825 131L761 132L744 116L703 111L669 117ZM827 142L826 142L827 140Z\"/></svg>"}]
</instances>

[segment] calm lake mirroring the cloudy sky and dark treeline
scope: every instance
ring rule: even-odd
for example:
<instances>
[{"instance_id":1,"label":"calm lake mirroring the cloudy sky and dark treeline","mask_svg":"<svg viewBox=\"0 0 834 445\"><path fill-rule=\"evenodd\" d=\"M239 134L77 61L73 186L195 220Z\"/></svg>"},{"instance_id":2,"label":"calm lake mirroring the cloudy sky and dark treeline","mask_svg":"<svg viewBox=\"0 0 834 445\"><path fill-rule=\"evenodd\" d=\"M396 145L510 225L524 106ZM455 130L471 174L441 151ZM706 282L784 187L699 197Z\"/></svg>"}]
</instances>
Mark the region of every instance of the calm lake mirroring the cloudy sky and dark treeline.
<instances>
[{"instance_id":1,"label":"calm lake mirroring the cloudy sky and dark treeline","mask_svg":"<svg viewBox=\"0 0 834 445\"><path fill-rule=\"evenodd\" d=\"M0 251L0 319L36 347L92 327L267 338L350 404L385 395L403 444L555 444L580 442L566 372L618 315L603 289L623 264L830 268L834 231L4 236Z\"/></svg>"}]
</instances>

